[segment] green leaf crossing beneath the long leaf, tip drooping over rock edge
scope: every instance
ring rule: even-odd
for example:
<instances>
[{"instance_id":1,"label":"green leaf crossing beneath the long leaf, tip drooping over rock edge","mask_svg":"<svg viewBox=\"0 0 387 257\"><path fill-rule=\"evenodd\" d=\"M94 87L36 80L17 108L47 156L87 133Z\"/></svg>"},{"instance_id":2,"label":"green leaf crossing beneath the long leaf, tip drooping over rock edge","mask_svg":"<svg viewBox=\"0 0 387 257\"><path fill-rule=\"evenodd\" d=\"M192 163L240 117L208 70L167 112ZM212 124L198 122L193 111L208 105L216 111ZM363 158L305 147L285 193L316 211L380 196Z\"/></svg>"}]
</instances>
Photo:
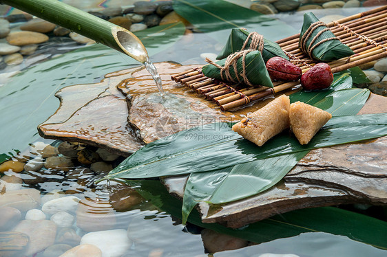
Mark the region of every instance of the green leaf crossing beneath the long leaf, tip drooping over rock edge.
<instances>
[{"instance_id":1,"label":"green leaf crossing beneath the long leaf, tip drooping over rock edge","mask_svg":"<svg viewBox=\"0 0 387 257\"><path fill-rule=\"evenodd\" d=\"M348 73L336 74L331 89L314 92L300 91L291 95L291 102L304 100L321 109L329 110L333 113L333 116L344 114L355 115L366 102L369 91L366 90L363 92L362 89L355 89L354 91L351 87L352 79L348 76ZM362 93L356 93L359 91ZM332 101L327 102L326 99L331 99ZM351 105L352 102L354 102L353 105ZM297 164L297 161L302 159L307 153L308 151L305 151L270 159L251 161L247 164L239 164L234 166L229 175L223 175L224 170L192 173L189 175L184 191L182 208L183 222L187 220L186 218L189 215L189 212L186 212L191 211L198 201L226 203L263 192L280 181ZM253 168L254 166L257 168ZM211 183L213 180L218 181L216 187L198 186L199 184ZM198 190L201 191L198 192ZM210 197L211 200L209 200Z\"/></svg>"}]
</instances>

